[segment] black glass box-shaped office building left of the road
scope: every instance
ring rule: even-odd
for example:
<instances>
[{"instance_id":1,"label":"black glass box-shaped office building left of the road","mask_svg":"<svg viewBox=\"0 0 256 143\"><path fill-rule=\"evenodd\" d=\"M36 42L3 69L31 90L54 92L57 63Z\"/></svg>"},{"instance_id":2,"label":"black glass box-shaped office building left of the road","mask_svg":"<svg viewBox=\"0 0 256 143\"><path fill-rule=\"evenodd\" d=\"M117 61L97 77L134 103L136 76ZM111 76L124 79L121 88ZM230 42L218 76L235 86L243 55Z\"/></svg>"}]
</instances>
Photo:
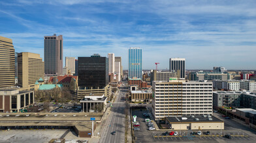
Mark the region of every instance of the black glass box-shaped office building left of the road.
<instances>
[{"instance_id":1,"label":"black glass box-shaped office building left of the road","mask_svg":"<svg viewBox=\"0 0 256 143\"><path fill-rule=\"evenodd\" d=\"M78 57L78 86L104 88L108 81L108 58L99 54Z\"/></svg>"}]
</instances>

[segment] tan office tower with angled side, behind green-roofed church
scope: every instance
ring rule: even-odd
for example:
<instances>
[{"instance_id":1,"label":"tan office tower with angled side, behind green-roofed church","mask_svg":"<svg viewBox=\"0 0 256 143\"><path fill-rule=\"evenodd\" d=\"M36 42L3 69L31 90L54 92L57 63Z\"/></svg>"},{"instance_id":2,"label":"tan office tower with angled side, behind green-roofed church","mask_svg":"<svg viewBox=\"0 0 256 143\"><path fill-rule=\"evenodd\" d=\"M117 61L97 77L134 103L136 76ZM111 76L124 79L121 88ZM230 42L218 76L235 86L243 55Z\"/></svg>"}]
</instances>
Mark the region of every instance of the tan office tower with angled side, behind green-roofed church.
<instances>
[{"instance_id":1,"label":"tan office tower with angled side, behind green-roofed church","mask_svg":"<svg viewBox=\"0 0 256 143\"><path fill-rule=\"evenodd\" d=\"M30 90L35 83L44 79L44 62L37 53L18 53L18 85Z\"/></svg>"}]
</instances>

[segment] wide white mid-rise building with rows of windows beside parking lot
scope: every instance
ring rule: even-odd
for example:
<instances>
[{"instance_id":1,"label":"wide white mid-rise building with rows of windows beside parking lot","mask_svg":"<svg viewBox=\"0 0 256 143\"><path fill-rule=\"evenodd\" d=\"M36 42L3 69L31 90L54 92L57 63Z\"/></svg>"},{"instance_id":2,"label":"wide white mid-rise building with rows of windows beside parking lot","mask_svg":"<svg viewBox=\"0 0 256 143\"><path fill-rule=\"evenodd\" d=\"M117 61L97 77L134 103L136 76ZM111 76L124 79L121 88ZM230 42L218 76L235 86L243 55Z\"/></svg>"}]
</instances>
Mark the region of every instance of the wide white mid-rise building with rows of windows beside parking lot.
<instances>
[{"instance_id":1,"label":"wide white mid-rise building with rows of windows beside parking lot","mask_svg":"<svg viewBox=\"0 0 256 143\"><path fill-rule=\"evenodd\" d=\"M189 116L212 114L212 82L153 81L153 116Z\"/></svg>"}]
</instances>

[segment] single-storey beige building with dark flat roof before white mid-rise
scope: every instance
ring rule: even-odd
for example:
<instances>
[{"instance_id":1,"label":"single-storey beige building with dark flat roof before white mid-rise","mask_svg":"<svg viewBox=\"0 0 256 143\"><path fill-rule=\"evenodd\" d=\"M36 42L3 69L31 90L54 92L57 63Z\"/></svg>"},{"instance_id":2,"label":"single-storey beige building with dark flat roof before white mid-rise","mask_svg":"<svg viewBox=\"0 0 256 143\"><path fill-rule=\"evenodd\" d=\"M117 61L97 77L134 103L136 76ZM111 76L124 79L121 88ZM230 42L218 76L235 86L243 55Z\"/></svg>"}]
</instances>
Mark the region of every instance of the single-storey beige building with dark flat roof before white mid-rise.
<instances>
[{"instance_id":1,"label":"single-storey beige building with dark flat roof before white mid-rise","mask_svg":"<svg viewBox=\"0 0 256 143\"><path fill-rule=\"evenodd\" d=\"M165 117L165 123L174 130L224 129L224 121L210 115Z\"/></svg>"}]
</instances>

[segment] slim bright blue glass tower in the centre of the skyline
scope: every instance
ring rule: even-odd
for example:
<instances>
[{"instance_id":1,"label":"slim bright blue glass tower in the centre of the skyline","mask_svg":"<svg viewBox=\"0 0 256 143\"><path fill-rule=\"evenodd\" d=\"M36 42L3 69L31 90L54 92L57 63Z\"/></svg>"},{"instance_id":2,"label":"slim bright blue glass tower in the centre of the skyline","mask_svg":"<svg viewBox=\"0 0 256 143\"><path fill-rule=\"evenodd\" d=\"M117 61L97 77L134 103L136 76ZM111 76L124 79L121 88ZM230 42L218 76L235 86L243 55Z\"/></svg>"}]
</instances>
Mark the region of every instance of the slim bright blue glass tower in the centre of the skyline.
<instances>
[{"instance_id":1,"label":"slim bright blue glass tower in the centre of the skyline","mask_svg":"<svg viewBox=\"0 0 256 143\"><path fill-rule=\"evenodd\" d=\"M142 79L142 49L140 47L130 47L128 64L129 79Z\"/></svg>"}]
</instances>

